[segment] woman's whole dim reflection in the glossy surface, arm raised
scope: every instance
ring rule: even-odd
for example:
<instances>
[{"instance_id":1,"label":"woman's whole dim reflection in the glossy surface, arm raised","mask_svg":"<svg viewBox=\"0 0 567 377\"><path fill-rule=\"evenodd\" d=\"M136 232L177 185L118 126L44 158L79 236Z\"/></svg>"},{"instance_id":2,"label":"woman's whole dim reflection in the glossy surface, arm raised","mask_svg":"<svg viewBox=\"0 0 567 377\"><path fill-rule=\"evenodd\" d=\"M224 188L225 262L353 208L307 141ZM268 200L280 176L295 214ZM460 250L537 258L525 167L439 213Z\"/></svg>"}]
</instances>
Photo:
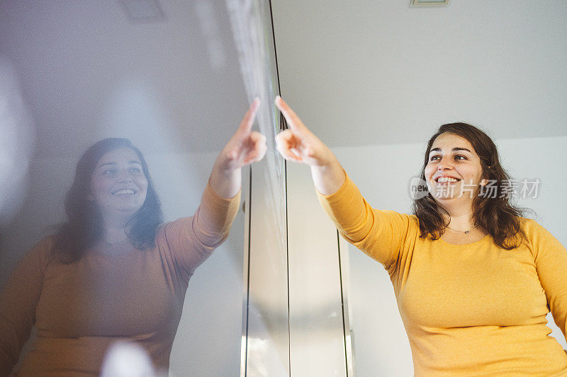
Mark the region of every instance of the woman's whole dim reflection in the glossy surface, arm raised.
<instances>
[{"instance_id":1,"label":"woman's whole dim reflection in the glossy surface, arm raised","mask_svg":"<svg viewBox=\"0 0 567 377\"><path fill-rule=\"evenodd\" d=\"M38 336L18 376L98 375L106 349L120 340L142 345L167 369L189 279L228 236L242 166L266 152L265 138L250 130L258 105L216 159L194 216L164 225L130 141L104 139L84 153L67 223L24 257L0 296L1 376L33 325Z\"/></svg>"}]
</instances>

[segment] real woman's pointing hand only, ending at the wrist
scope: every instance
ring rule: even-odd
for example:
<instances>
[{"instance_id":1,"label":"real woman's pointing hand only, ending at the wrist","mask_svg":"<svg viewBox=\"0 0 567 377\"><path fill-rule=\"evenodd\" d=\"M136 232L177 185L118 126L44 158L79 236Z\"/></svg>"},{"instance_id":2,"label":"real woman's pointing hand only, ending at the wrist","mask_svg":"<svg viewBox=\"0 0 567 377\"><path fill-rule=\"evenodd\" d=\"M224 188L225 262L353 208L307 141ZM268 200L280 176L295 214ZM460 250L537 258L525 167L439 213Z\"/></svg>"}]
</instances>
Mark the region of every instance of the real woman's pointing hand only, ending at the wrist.
<instances>
[{"instance_id":1,"label":"real woman's pointing hand only, ending at the wrist","mask_svg":"<svg viewBox=\"0 0 567 377\"><path fill-rule=\"evenodd\" d=\"M325 166L334 156L318 137L310 132L301 119L278 95L276 106L286 118L289 128L276 135L276 149L288 161L310 166Z\"/></svg>"}]
</instances>

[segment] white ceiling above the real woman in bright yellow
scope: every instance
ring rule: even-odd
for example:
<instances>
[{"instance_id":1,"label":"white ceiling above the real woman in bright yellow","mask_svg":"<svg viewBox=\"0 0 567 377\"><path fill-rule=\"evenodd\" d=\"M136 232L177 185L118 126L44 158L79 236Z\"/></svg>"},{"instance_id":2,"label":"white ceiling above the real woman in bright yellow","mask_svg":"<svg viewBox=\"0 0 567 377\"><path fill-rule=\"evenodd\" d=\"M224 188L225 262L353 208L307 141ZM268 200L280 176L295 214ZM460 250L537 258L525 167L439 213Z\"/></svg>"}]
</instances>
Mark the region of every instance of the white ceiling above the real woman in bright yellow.
<instances>
[{"instance_id":1,"label":"white ceiling above the real woman in bright yellow","mask_svg":"<svg viewBox=\"0 0 567 377\"><path fill-rule=\"evenodd\" d=\"M567 1L272 1L281 94L332 146L425 143L464 121L567 135Z\"/></svg>"}]
</instances>

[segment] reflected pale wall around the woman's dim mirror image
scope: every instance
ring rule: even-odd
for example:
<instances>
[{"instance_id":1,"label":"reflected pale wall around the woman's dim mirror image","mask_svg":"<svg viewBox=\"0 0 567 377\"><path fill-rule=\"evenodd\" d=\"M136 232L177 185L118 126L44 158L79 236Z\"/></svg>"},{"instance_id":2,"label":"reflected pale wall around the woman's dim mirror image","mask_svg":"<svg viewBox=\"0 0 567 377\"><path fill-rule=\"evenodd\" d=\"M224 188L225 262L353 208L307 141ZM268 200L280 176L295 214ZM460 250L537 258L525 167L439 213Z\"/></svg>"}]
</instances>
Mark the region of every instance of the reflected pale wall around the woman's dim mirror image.
<instances>
[{"instance_id":1,"label":"reflected pale wall around the woman's dim mirror image","mask_svg":"<svg viewBox=\"0 0 567 377\"><path fill-rule=\"evenodd\" d=\"M165 219L191 216L201 199L216 153L147 154ZM23 253L49 226L62 221L63 197L79 156L33 160L27 199L14 219L0 229L0 286ZM239 212L228 240L189 282L174 341L174 376L237 376L242 332L244 218Z\"/></svg>"}]
</instances>

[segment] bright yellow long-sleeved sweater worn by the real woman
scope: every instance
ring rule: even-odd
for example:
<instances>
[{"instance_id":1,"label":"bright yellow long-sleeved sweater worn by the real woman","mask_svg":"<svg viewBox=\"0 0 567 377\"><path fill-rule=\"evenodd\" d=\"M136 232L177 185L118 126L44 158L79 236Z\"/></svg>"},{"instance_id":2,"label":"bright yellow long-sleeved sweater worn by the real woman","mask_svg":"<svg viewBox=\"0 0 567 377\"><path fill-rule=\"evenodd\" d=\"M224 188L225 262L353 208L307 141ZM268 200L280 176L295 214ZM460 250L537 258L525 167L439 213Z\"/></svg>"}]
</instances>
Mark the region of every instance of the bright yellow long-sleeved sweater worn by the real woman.
<instances>
[{"instance_id":1,"label":"bright yellow long-sleeved sweater worn by the real woman","mask_svg":"<svg viewBox=\"0 0 567 377\"><path fill-rule=\"evenodd\" d=\"M522 219L527 240L513 250L490 235L451 245L420 238L416 216L372 209L348 177L319 198L342 236L390 274L415 376L567 375L546 326L551 309L566 334L567 250L535 221Z\"/></svg>"}]
</instances>

